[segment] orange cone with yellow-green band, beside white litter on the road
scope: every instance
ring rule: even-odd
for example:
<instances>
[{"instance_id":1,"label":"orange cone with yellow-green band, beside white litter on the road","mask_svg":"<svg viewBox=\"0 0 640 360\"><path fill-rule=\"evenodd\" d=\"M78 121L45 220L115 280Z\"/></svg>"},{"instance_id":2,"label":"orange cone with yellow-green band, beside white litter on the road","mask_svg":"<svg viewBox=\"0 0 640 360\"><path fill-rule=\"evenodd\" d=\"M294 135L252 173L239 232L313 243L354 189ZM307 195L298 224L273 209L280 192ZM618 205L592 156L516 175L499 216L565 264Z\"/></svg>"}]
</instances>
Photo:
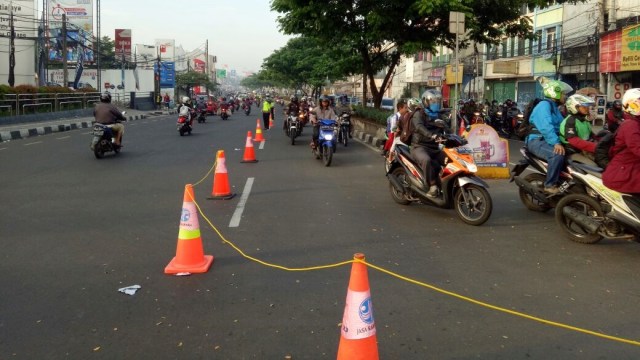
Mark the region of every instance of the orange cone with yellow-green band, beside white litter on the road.
<instances>
[{"instance_id":1,"label":"orange cone with yellow-green band, beside white litter on the road","mask_svg":"<svg viewBox=\"0 0 640 360\"><path fill-rule=\"evenodd\" d=\"M180 217L180 231L178 232L178 248L176 256L164 268L165 274L180 272L204 273L213 263L213 255L204 255L200 225L198 223L198 209L194 202L193 186L184 187L182 216Z\"/></svg>"}]
</instances>

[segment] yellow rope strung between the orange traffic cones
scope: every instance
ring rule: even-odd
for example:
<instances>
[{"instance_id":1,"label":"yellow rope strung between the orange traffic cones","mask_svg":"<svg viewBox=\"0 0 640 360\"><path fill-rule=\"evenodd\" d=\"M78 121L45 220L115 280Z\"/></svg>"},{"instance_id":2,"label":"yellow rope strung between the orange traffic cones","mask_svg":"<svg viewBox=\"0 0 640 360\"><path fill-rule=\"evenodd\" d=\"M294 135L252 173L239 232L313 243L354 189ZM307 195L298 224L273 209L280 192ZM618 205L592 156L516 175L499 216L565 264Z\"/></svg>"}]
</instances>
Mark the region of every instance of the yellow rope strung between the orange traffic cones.
<instances>
[{"instance_id":1,"label":"yellow rope strung between the orange traffic cones","mask_svg":"<svg viewBox=\"0 0 640 360\"><path fill-rule=\"evenodd\" d=\"M214 167L215 167L215 164L214 164ZM209 172L211 172L211 171L209 171ZM205 176L205 178L206 178L206 176ZM272 267L272 268L276 268L276 269L280 269L280 270L285 270L285 271L312 271L312 270L322 270L322 269L340 267L340 266L343 266L343 265L351 264L353 262L361 262L361 263L365 264L366 266L368 266L368 267L370 267L370 268L372 268L374 270L377 270L377 271L380 271L380 272L385 273L387 275L393 276L393 277L395 277L397 279L409 282L411 284L419 285L419 286L425 287L427 289L431 289L431 290L437 291L437 292L439 292L441 294L449 295L449 296L455 297L457 299L470 302L472 304L480 305L480 306L483 306L483 307L486 307L486 308L489 308L489 309L492 309L492 310L500 311L500 312L507 313L507 314L514 315L514 316L518 316L518 317L521 317L521 318L533 320L533 321L536 321L536 322L539 322L539 323L542 323L542 324L547 324L547 325L551 325L551 326L555 326L555 327L559 327L559 328L563 328L563 329L567 329L567 330L572 330L572 331L580 332L580 333L583 333L583 334L604 338L604 339L607 339L607 340L612 340L612 341L617 341L617 342L621 342L621 343L625 343L625 344L640 346L640 341L631 340L631 339L625 339L625 338L612 336L612 335L607 335L607 334L600 333L600 332L597 332L597 331L587 330L587 329L579 328L579 327L576 327L576 326L571 326L571 325L562 324L562 323L555 322L555 321L545 320L545 319L542 319L542 318L539 318L539 317L536 317L536 316L528 315L528 314L521 313L521 312L514 311L514 310L509 310L509 309L506 309L506 308L503 308L503 307L499 307L499 306L496 306L496 305L491 305L489 303L485 303L485 302L482 302L482 301L479 301L479 300L476 300L476 299L473 299L473 298L470 298L470 297L467 297L467 296L464 296L464 295L460 295L460 294L457 294L457 293L454 293L454 292L451 292L451 291L448 291L448 290L441 289L439 287L424 283L422 281L418 281L418 280L414 280L414 279L408 278L406 276L402 276L402 275L397 274L397 273L395 273L393 271L390 271L390 270L384 269L382 267L379 267L379 266L373 265L371 263L368 263L368 262L366 262L366 260L353 259L353 260L342 261L342 262L335 263L335 264L317 265L317 266L310 266L310 267L303 267L303 268L290 268L290 267L287 267L287 266L268 263L266 261L263 261L263 260L260 260L258 258L255 258L253 256L245 254L245 252L242 251L239 247L237 247L234 243L232 243L231 241L227 240L222 235L220 230L218 230L218 228L215 225L213 225L213 223L209 220L209 218L202 212L202 209L200 208L200 205L198 205L198 203L195 201L195 199L193 199L193 203L198 208L198 212L200 213L200 215L202 215L202 218L205 219L205 221L209 224L209 226L213 229L213 231L215 231L216 234L218 234L220 239L222 239L222 241L225 244L228 244L229 246L231 246L234 250L236 250L244 258L246 258L248 260L251 260L251 261L254 261L254 262L257 262L258 264L262 264L264 266L268 266L268 267Z\"/></svg>"}]
</instances>

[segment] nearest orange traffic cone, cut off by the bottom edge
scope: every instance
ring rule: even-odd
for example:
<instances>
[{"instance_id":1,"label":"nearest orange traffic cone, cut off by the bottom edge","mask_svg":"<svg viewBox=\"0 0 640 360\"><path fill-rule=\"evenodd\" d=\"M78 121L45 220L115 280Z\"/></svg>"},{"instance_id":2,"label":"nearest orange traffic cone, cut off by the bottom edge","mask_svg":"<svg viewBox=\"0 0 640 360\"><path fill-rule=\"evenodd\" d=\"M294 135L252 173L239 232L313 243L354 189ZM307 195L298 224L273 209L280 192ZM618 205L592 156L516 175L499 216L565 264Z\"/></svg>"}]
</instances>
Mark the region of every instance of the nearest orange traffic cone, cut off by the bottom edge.
<instances>
[{"instance_id":1,"label":"nearest orange traffic cone, cut off by the bottom edge","mask_svg":"<svg viewBox=\"0 0 640 360\"><path fill-rule=\"evenodd\" d=\"M338 360L378 359L376 324L369 290L369 278L364 254L353 255L347 303L342 317ZM360 260L360 261L359 261Z\"/></svg>"}]
</instances>

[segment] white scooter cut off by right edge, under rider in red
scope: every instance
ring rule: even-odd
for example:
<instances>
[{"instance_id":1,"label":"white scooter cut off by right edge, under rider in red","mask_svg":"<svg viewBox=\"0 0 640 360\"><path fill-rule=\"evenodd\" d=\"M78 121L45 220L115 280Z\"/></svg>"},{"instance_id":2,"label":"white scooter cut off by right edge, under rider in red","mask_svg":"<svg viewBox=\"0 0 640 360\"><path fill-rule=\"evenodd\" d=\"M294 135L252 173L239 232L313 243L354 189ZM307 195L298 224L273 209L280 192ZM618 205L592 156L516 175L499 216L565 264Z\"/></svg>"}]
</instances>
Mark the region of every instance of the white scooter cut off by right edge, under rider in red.
<instances>
[{"instance_id":1,"label":"white scooter cut off by right edge, under rider in red","mask_svg":"<svg viewBox=\"0 0 640 360\"><path fill-rule=\"evenodd\" d=\"M558 202L556 223L565 235L583 244L602 239L640 241L640 198L604 186L601 168L571 165L571 175L586 193L567 195Z\"/></svg>"}]
</instances>

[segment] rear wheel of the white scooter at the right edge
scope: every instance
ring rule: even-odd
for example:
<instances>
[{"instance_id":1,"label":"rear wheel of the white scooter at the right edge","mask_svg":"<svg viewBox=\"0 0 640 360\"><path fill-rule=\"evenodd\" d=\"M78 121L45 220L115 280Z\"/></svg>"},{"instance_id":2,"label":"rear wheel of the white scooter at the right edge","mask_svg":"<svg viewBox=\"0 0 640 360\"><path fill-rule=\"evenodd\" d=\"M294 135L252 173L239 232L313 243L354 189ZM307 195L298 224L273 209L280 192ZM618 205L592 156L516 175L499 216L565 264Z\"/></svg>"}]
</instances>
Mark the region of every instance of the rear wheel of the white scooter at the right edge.
<instances>
[{"instance_id":1,"label":"rear wheel of the white scooter at the right edge","mask_svg":"<svg viewBox=\"0 0 640 360\"><path fill-rule=\"evenodd\" d=\"M590 234L580 224L575 223L564 215L562 211L565 207L572 207L584 215L594 218L604 216L602 208L597 201L584 194L570 194L563 197L556 206L556 223L570 240L581 244L595 244L602 240L599 234Z\"/></svg>"}]
</instances>

